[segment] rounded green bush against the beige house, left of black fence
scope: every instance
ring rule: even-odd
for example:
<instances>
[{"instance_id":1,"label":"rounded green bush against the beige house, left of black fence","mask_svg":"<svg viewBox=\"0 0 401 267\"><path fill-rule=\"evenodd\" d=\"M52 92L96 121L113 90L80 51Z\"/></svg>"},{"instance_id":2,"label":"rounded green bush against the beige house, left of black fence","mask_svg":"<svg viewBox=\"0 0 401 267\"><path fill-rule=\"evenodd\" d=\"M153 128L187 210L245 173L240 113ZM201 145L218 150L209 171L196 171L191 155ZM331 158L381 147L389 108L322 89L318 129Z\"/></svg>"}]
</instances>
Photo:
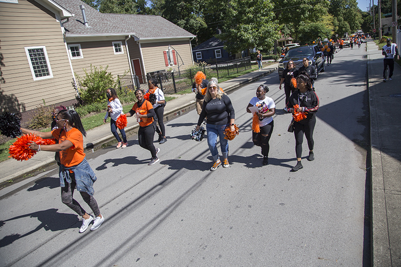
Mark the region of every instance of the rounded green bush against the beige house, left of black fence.
<instances>
[{"instance_id":1,"label":"rounded green bush against the beige house, left of black fence","mask_svg":"<svg viewBox=\"0 0 401 267\"><path fill-rule=\"evenodd\" d=\"M86 69L83 78L75 74L78 81L79 97L84 104L101 103L106 100L105 90L107 88L115 88L116 84L113 75L107 72L108 66L103 69L102 66L96 68L92 66L88 73Z\"/></svg>"}]
</instances>

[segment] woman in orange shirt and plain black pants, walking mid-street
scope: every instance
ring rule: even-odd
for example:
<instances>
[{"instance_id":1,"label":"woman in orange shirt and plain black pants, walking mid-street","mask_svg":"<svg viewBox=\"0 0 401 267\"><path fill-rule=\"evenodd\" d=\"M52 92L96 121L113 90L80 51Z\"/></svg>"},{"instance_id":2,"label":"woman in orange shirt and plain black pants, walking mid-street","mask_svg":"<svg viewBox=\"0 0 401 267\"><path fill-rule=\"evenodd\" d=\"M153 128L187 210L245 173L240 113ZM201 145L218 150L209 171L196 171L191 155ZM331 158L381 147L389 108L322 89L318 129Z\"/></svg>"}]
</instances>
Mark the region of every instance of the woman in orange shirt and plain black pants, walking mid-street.
<instances>
[{"instance_id":1,"label":"woman in orange shirt and plain black pants, walking mid-street","mask_svg":"<svg viewBox=\"0 0 401 267\"><path fill-rule=\"evenodd\" d=\"M138 142L141 147L147 149L152 154L152 159L147 165L153 165L159 158L157 153L159 153L160 148L155 148L153 145L154 137L154 123L153 117L156 116L154 112L153 105L143 98L143 91L141 89L135 90L135 97L138 102L134 104L132 109L125 114L127 117L135 115L137 122L139 123L138 130Z\"/></svg>"}]
</instances>

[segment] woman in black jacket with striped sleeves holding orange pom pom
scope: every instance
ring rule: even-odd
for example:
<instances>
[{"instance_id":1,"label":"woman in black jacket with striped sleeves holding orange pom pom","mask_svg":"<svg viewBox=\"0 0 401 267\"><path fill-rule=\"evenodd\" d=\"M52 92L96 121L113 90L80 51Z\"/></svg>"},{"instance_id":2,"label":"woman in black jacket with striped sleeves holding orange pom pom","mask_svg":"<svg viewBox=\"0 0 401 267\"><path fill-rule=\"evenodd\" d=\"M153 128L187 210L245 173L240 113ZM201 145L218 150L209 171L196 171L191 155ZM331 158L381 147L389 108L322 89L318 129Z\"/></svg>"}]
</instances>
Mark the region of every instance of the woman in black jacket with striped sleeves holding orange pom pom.
<instances>
[{"instance_id":1,"label":"woman in black jacket with striped sleeves holding orange pom pom","mask_svg":"<svg viewBox=\"0 0 401 267\"><path fill-rule=\"evenodd\" d=\"M294 106L299 105L297 112L305 112L306 118L298 122L294 121L294 135L295 135L295 153L297 155L297 165L291 171L302 169L301 155L302 155L302 142L304 134L308 141L309 157L308 160L315 159L313 154L313 130L316 124L316 112L319 108L319 98L315 91L312 89L311 79L309 75L302 72L297 77L297 88L288 100L287 108L290 112L294 113Z\"/></svg>"}]
</instances>

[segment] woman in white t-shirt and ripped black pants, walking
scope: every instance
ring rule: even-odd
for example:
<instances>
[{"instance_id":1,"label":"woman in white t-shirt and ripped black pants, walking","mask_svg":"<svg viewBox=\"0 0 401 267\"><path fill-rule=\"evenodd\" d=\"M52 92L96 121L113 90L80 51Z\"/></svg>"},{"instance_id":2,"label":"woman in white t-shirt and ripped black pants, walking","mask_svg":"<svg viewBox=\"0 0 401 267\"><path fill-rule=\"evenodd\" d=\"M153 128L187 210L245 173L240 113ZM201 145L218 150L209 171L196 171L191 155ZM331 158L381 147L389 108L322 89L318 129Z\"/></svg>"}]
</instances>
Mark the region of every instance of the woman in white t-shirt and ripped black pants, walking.
<instances>
[{"instance_id":1,"label":"woman in white t-shirt and ripped black pants, walking","mask_svg":"<svg viewBox=\"0 0 401 267\"><path fill-rule=\"evenodd\" d=\"M262 147L263 165L269 164L269 140L272 136L274 122L273 115L276 112L276 105L273 99L266 96L269 88L261 84L256 89L256 97L252 98L248 104L247 112L252 113L250 107L257 107L256 116L258 117L258 126L252 124L252 141L256 146Z\"/></svg>"}]
</instances>

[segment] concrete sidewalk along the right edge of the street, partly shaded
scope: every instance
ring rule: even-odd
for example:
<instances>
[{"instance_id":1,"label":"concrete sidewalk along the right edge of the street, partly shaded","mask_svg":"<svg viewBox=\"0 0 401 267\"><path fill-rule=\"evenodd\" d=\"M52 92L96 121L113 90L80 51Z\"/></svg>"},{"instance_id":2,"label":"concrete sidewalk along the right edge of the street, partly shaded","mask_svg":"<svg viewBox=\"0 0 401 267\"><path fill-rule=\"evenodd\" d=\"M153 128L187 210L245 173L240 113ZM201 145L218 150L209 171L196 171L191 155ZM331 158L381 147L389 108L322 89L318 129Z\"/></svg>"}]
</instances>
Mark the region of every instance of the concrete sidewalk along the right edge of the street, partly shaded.
<instances>
[{"instance_id":1,"label":"concrete sidewalk along the right edge of the street, partly shaded","mask_svg":"<svg viewBox=\"0 0 401 267\"><path fill-rule=\"evenodd\" d=\"M401 265L401 68L383 82L383 56L367 42L370 106L372 265Z\"/></svg>"}]
</instances>

